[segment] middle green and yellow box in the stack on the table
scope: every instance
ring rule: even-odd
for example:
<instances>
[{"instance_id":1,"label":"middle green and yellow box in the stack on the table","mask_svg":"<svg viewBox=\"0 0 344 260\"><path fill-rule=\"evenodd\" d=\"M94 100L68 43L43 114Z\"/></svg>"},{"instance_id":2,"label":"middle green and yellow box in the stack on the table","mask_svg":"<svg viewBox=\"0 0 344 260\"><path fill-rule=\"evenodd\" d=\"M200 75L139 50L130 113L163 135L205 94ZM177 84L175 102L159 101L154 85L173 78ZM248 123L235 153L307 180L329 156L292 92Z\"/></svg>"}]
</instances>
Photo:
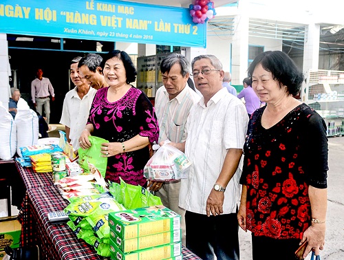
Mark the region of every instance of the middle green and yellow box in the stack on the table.
<instances>
[{"instance_id":1,"label":"middle green and yellow box in the stack on the table","mask_svg":"<svg viewBox=\"0 0 344 260\"><path fill-rule=\"evenodd\" d=\"M181 230L173 230L144 237L135 237L132 239L121 239L120 236L110 229L110 238L122 252L137 251L153 246L162 246L169 243L181 241Z\"/></svg>"}]
</instances>

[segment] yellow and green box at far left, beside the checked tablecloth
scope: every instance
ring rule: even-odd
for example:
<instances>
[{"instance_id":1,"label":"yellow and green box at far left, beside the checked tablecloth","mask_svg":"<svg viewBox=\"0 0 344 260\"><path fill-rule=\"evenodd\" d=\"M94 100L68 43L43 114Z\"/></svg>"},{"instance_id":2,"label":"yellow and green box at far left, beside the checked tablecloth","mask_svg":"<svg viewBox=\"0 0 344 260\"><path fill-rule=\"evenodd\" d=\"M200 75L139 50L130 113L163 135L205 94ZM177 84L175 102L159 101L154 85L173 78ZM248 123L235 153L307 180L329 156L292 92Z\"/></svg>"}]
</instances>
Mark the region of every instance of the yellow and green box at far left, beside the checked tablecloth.
<instances>
[{"instance_id":1,"label":"yellow and green box at far left, beside the checked tablecloth","mask_svg":"<svg viewBox=\"0 0 344 260\"><path fill-rule=\"evenodd\" d=\"M0 251L6 246L19 248L21 224L15 217L0 217Z\"/></svg>"}]
</instances>

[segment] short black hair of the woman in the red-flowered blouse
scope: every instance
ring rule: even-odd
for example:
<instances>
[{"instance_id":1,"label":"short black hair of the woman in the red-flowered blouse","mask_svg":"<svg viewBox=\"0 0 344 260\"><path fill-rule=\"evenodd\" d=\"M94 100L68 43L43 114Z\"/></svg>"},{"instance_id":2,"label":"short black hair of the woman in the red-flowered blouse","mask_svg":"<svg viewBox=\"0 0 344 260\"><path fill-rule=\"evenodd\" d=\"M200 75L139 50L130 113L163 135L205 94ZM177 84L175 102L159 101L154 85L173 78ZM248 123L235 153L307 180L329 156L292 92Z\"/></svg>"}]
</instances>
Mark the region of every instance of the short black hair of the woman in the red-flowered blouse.
<instances>
[{"instance_id":1,"label":"short black hair of the woman in the red-flowered blouse","mask_svg":"<svg viewBox=\"0 0 344 260\"><path fill-rule=\"evenodd\" d=\"M255 67L259 64L266 71L272 73L273 78L280 83L279 87L283 85L287 87L288 94L292 94L292 96L299 94L303 74L287 54L281 51L268 51L258 54L248 67L249 77L252 77Z\"/></svg>"}]
</instances>

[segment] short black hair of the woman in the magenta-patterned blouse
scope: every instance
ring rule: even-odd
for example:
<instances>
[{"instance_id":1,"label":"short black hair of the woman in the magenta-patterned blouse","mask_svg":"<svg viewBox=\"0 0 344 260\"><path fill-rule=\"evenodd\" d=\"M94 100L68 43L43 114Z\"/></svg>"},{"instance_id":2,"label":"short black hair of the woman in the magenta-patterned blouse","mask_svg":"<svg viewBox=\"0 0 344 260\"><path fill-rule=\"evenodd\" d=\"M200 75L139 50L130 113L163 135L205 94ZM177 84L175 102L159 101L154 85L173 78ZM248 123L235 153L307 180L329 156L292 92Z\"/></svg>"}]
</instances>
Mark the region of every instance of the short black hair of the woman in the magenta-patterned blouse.
<instances>
[{"instance_id":1,"label":"short black hair of the woman in the magenta-patterned blouse","mask_svg":"<svg viewBox=\"0 0 344 260\"><path fill-rule=\"evenodd\" d=\"M127 76L127 84L130 84L132 82L135 82L136 75L138 72L136 71L135 65L133 65L133 61L131 61L131 58L127 52L120 51L120 50L112 50L105 54L103 58L103 63L101 64L101 67L104 69L106 61L108 61L110 58L118 58L120 61L122 61L123 65L125 65L125 74Z\"/></svg>"}]
</instances>

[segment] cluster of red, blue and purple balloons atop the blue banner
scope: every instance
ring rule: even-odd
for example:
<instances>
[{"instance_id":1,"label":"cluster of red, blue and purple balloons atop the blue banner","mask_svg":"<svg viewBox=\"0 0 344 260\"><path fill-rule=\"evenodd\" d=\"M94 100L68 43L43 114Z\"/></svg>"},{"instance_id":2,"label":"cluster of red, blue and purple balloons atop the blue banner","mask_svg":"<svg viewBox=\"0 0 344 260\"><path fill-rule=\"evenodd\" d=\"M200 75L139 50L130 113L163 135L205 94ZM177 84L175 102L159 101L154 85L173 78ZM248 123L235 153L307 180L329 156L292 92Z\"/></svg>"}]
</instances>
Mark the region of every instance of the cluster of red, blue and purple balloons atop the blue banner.
<instances>
[{"instance_id":1,"label":"cluster of red, blue and purple balloons atop the blue banner","mask_svg":"<svg viewBox=\"0 0 344 260\"><path fill-rule=\"evenodd\" d=\"M189 6L194 23L204 23L215 17L214 2L211 0L193 0Z\"/></svg>"}]
</instances>

